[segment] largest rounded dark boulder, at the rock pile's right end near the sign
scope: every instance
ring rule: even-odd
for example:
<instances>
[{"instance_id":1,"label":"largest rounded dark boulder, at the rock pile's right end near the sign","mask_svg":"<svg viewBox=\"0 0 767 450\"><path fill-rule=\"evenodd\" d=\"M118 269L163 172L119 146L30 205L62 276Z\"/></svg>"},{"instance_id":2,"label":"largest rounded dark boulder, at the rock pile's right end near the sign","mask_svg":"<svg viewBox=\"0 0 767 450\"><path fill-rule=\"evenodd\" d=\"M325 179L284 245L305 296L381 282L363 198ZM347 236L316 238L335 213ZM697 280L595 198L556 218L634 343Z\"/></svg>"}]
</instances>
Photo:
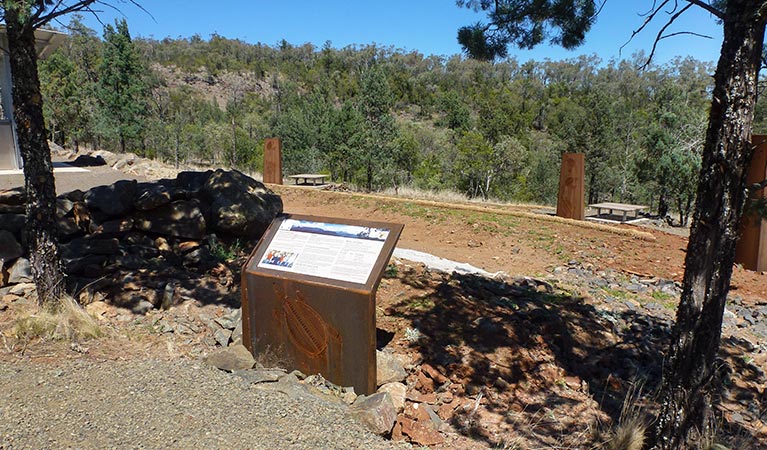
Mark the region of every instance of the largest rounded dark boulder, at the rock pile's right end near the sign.
<instances>
[{"instance_id":1,"label":"largest rounded dark boulder, at the rock pile's right end near the sign","mask_svg":"<svg viewBox=\"0 0 767 450\"><path fill-rule=\"evenodd\" d=\"M278 195L236 170L213 172L202 195L210 204L211 230L234 236L258 238L282 212Z\"/></svg>"}]
</instances>

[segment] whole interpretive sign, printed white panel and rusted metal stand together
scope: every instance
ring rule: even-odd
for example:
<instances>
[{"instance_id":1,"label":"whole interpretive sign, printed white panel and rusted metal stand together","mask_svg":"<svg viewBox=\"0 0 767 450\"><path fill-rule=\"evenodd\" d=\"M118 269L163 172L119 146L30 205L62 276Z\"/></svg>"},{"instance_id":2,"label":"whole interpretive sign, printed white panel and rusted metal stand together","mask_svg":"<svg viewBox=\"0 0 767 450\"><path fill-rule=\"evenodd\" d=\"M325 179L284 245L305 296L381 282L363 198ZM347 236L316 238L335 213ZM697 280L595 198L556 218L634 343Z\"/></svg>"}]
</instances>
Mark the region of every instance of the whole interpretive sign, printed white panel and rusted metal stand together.
<instances>
[{"instance_id":1,"label":"whole interpretive sign, printed white panel and rusted metal stand together","mask_svg":"<svg viewBox=\"0 0 767 450\"><path fill-rule=\"evenodd\" d=\"M375 292L402 225L277 217L243 268L243 340L357 393L376 388Z\"/></svg>"}]
</instances>

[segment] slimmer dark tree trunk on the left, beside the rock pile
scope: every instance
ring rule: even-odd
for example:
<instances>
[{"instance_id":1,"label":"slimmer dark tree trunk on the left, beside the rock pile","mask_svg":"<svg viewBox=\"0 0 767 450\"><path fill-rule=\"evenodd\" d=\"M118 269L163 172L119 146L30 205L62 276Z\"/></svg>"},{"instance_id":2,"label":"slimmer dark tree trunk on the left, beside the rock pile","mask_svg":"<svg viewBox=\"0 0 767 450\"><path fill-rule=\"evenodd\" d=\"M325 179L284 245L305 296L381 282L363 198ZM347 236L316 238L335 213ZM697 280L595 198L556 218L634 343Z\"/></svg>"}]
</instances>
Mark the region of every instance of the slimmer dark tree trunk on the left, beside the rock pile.
<instances>
[{"instance_id":1,"label":"slimmer dark tree trunk on the left, beside the rock pile","mask_svg":"<svg viewBox=\"0 0 767 450\"><path fill-rule=\"evenodd\" d=\"M64 293L64 273L56 237L56 186L43 121L34 29L29 11L20 8L22 11L5 8L5 24L13 76L13 117L27 194L24 234L38 302L56 307Z\"/></svg>"}]
</instances>

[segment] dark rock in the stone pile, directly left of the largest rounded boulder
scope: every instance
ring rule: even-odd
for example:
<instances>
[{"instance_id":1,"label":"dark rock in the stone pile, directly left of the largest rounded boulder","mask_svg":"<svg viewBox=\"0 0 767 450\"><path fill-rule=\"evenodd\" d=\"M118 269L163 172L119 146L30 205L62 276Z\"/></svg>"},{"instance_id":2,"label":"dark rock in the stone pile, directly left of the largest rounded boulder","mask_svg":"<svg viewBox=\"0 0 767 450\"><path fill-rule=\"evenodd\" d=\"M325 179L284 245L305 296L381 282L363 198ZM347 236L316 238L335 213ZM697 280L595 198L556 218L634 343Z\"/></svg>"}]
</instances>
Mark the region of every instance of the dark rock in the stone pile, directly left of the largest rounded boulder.
<instances>
[{"instance_id":1,"label":"dark rock in the stone pile, directly left of the largest rounded boulder","mask_svg":"<svg viewBox=\"0 0 767 450\"><path fill-rule=\"evenodd\" d=\"M197 201L177 200L151 211L136 213L134 226L141 231L187 239L205 236L205 218Z\"/></svg>"}]
</instances>

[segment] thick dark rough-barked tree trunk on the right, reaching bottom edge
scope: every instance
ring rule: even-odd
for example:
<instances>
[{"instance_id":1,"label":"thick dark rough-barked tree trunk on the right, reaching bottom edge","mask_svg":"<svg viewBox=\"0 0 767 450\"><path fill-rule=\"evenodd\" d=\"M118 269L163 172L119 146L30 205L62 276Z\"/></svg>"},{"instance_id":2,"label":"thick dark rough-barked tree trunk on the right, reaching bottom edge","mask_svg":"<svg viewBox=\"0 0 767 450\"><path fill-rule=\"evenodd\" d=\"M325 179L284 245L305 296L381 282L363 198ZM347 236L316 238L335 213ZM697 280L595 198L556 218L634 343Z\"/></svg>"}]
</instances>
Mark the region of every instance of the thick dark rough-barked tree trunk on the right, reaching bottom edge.
<instances>
[{"instance_id":1,"label":"thick dark rough-barked tree trunk on the right, reaching bottom edge","mask_svg":"<svg viewBox=\"0 0 767 450\"><path fill-rule=\"evenodd\" d=\"M751 125L765 8L765 1L726 3L724 42L653 448L691 446L690 438L710 426L717 400L715 360L753 154Z\"/></svg>"}]
</instances>

